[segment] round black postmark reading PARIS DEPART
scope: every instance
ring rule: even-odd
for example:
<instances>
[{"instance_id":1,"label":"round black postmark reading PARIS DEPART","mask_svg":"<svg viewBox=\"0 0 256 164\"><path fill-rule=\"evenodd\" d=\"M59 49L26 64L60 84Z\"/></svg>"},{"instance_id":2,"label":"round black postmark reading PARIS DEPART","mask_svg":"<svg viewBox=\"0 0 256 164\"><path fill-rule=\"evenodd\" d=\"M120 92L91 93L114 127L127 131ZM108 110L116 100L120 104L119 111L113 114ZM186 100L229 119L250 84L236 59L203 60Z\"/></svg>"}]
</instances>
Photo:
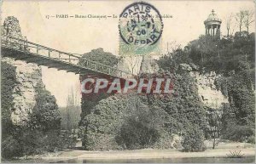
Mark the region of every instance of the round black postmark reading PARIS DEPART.
<instances>
[{"instance_id":1,"label":"round black postmark reading PARIS DEPART","mask_svg":"<svg viewBox=\"0 0 256 164\"><path fill-rule=\"evenodd\" d=\"M163 26L160 12L149 3L132 3L119 15L119 34L126 44L153 45Z\"/></svg>"}]
</instances>

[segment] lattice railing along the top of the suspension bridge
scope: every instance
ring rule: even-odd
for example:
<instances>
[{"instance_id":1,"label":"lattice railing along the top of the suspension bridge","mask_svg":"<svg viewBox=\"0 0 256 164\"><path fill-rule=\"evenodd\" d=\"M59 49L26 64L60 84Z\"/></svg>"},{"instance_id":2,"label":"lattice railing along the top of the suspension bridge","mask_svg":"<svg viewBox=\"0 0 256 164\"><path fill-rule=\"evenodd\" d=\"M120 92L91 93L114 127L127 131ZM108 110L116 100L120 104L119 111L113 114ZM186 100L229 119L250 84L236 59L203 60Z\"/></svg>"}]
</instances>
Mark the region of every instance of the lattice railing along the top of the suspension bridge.
<instances>
[{"instance_id":1,"label":"lattice railing along the top of the suspension bridge","mask_svg":"<svg viewBox=\"0 0 256 164\"><path fill-rule=\"evenodd\" d=\"M121 71L117 68L114 68L113 66L103 65L102 63L98 63L90 59L82 58L81 57L82 55L65 53L65 52L62 52L53 48L48 48L40 44L29 42L27 40L20 39L17 37L2 36L1 44L2 46L13 48L25 53L29 53L31 55L40 55L40 56L47 57L49 59L65 62L70 65L78 65L79 67L83 67L91 71L100 72L110 76L119 76L119 77L133 76L131 73Z\"/></svg>"}]
</instances>

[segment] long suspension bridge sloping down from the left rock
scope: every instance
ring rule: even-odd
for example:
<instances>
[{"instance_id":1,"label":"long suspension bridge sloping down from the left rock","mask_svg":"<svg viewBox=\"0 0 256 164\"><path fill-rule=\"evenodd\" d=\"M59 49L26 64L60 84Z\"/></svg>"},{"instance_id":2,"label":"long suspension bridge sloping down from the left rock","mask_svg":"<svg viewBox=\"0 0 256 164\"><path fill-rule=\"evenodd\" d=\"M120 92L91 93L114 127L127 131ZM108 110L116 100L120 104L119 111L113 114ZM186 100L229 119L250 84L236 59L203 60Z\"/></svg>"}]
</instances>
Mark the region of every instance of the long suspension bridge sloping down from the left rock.
<instances>
[{"instance_id":1,"label":"long suspension bridge sloping down from the left rock","mask_svg":"<svg viewBox=\"0 0 256 164\"><path fill-rule=\"evenodd\" d=\"M17 37L2 36L1 53L2 57L11 57L15 60L24 60L26 63L35 63L80 75L96 74L123 79L133 76L113 66L82 58L81 54L61 52Z\"/></svg>"}]
</instances>

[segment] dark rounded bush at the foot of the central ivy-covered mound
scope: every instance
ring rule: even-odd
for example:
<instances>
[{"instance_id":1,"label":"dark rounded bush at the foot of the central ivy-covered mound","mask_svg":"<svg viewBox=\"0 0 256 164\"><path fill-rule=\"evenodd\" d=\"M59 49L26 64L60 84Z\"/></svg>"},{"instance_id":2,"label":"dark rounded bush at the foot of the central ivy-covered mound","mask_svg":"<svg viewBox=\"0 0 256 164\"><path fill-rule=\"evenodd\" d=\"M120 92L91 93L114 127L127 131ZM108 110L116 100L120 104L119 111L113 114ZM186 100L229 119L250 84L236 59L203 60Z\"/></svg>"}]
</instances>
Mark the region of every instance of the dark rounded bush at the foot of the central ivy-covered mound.
<instances>
[{"instance_id":1,"label":"dark rounded bush at the foot of the central ivy-covered mound","mask_svg":"<svg viewBox=\"0 0 256 164\"><path fill-rule=\"evenodd\" d=\"M148 105L137 102L136 109L125 117L116 136L118 144L124 144L127 149L144 148L153 145L160 138L162 119L160 109L152 109Z\"/></svg>"}]
</instances>

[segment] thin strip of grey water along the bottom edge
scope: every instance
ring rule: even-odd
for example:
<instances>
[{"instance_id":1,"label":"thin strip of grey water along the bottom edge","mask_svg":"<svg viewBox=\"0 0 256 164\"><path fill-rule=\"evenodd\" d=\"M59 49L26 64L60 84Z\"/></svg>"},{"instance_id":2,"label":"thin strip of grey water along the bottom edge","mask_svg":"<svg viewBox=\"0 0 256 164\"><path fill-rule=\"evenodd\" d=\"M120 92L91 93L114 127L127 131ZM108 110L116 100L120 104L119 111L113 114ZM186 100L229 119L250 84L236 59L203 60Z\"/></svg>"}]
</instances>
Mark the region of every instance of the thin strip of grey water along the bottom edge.
<instances>
[{"instance_id":1,"label":"thin strip of grey water along the bottom edge","mask_svg":"<svg viewBox=\"0 0 256 164\"><path fill-rule=\"evenodd\" d=\"M255 157L243 158L152 158L152 159L102 159L102 160L85 160L85 159L71 159L67 161L56 161L55 163L254 163Z\"/></svg>"}]
</instances>

